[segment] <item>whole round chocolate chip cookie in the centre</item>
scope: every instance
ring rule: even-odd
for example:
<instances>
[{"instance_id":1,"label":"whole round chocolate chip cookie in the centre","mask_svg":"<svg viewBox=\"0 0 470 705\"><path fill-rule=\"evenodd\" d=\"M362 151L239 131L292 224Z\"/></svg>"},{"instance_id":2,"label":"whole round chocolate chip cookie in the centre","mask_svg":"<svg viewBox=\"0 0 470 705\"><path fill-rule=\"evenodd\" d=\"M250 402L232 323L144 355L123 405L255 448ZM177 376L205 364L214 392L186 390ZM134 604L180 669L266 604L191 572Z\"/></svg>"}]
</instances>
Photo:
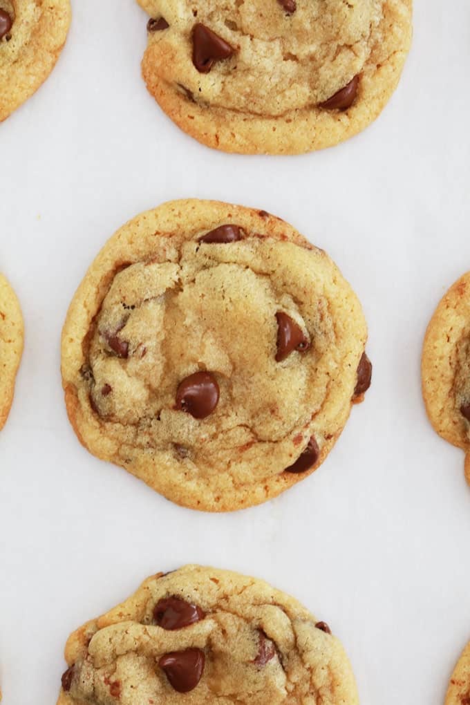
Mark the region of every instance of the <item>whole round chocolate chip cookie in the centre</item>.
<instances>
[{"instance_id":1,"label":"whole round chocolate chip cookie in the centre","mask_svg":"<svg viewBox=\"0 0 470 705\"><path fill-rule=\"evenodd\" d=\"M187 507L235 510L313 472L370 384L331 259L264 211L175 201L101 250L68 311L70 422Z\"/></svg>"}]
</instances>

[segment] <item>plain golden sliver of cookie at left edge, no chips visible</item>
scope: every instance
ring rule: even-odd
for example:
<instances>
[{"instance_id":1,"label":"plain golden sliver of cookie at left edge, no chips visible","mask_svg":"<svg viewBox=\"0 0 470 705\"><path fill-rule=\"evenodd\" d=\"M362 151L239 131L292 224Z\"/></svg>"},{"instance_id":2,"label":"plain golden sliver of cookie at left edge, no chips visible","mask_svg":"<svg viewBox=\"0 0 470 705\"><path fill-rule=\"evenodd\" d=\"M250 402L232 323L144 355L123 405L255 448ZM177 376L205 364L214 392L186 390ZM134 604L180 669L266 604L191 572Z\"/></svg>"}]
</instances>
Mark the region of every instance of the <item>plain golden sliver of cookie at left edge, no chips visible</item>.
<instances>
[{"instance_id":1,"label":"plain golden sliver of cookie at left edge, no chips visible","mask_svg":"<svg viewBox=\"0 0 470 705\"><path fill-rule=\"evenodd\" d=\"M23 317L13 289L0 274L0 431L13 402L15 379L23 353Z\"/></svg>"}]
</instances>

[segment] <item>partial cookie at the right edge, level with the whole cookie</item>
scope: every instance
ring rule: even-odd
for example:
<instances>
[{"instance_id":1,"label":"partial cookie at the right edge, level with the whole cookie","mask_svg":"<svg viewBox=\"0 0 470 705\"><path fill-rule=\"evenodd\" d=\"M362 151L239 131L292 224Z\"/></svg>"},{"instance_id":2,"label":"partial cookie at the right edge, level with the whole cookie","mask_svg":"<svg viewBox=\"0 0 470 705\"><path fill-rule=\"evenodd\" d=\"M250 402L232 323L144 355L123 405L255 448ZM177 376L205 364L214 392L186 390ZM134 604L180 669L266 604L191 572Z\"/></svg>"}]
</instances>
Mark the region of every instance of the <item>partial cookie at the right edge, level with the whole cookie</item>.
<instances>
[{"instance_id":1,"label":"partial cookie at the right edge, level with the whole cookie","mask_svg":"<svg viewBox=\"0 0 470 705\"><path fill-rule=\"evenodd\" d=\"M440 301L424 338L423 398L435 431L466 454L470 484L470 272Z\"/></svg>"}]
</instances>

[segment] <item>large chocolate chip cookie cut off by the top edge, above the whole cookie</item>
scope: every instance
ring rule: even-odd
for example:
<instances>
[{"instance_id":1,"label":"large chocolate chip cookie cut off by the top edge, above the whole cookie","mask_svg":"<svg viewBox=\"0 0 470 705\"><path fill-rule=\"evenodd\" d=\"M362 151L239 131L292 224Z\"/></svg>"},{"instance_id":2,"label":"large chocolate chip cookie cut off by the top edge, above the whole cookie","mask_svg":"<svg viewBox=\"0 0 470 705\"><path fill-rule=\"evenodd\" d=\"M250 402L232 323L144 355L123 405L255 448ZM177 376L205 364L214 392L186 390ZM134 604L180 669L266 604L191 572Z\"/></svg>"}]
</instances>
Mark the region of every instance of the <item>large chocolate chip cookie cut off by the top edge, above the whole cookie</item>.
<instances>
[{"instance_id":1,"label":"large chocolate chip cookie cut off by the top edge, above the whole cookie","mask_svg":"<svg viewBox=\"0 0 470 705\"><path fill-rule=\"evenodd\" d=\"M138 0L142 74L171 119L224 152L299 154L381 113L412 38L412 0Z\"/></svg>"}]
</instances>

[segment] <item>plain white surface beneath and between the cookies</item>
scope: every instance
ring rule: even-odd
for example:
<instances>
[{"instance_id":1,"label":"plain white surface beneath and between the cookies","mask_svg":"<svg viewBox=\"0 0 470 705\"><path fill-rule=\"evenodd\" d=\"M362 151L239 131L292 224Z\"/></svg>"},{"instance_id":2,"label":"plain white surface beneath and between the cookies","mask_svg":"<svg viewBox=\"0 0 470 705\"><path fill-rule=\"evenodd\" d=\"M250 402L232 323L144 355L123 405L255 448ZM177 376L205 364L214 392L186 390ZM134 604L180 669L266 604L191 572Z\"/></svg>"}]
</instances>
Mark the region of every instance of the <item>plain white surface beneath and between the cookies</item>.
<instances>
[{"instance_id":1,"label":"plain white surface beneath and between the cookies","mask_svg":"<svg viewBox=\"0 0 470 705\"><path fill-rule=\"evenodd\" d=\"M0 269L26 345L0 436L0 677L5 705L54 705L66 637L156 570L264 577L342 639L362 705L442 705L470 638L470 490L436 436L419 357L469 269L470 4L416 0L414 46L383 116L304 157L213 152L140 78L147 16L75 0L56 70L0 126ZM369 321L373 386L321 469L229 515L178 508L89 455L68 424L61 326L107 238L178 197L266 209L325 248ZM3 704L2 704L3 705Z\"/></svg>"}]
</instances>

